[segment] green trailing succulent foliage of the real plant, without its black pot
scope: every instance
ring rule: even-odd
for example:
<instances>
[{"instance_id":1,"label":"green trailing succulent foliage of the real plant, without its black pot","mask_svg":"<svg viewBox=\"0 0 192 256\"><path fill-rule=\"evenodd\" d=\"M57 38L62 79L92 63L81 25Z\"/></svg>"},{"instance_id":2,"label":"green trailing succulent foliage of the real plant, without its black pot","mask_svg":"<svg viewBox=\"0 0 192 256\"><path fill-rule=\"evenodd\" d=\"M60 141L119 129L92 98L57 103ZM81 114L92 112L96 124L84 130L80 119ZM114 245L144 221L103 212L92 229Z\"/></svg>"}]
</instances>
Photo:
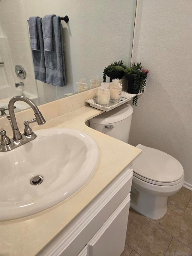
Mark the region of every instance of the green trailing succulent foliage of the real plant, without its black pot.
<instances>
[{"instance_id":1,"label":"green trailing succulent foliage of the real plant, without its black pot","mask_svg":"<svg viewBox=\"0 0 192 256\"><path fill-rule=\"evenodd\" d=\"M141 65L141 62L135 62L131 64L131 68L125 68L124 72L128 75L134 76L134 90L133 93L136 94L133 98L132 104L137 106L137 100L138 100L138 93L143 93L145 91L146 87L146 80L147 80L147 74L149 73L149 70L143 68Z\"/></svg>"}]
</instances>

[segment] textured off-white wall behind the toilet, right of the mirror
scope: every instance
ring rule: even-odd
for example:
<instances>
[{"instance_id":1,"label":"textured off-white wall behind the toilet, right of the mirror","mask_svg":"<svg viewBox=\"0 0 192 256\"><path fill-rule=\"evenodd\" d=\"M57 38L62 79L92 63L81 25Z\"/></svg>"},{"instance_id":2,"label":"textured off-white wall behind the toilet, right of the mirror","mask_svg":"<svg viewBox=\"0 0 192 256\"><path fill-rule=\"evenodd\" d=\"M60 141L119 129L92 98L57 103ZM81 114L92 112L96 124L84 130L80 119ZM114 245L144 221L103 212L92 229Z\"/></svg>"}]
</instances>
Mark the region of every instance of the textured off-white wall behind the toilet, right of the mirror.
<instances>
[{"instance_id":1,"label":"textured off-white wall behind the toilet, right of the mirror","mask_svg":"<svg viewBox=\"0 0 192 256\"><path fill-rule=\"evenodd\" d=\"M140 0L138 7L132 62L150 72L129 143L178 159L192 189L192 2Z\"/></svg>"}]
</instances>

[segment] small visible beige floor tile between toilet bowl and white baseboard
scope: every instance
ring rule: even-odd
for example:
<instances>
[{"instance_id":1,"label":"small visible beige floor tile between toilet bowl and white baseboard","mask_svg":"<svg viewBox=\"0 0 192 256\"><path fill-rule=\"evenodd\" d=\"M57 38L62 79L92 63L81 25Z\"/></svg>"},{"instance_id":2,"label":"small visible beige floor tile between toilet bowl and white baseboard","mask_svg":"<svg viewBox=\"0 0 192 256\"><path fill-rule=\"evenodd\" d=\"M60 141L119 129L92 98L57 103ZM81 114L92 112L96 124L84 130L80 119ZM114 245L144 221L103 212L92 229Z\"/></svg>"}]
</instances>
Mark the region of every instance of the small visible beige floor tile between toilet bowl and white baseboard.
<instances>
[{"instance_id":1,"label":"small visible beige floor tile between toilet bowl and white baseboard","mask_svg":"<svg viewBox=\"0 0 192 256\"><path fill-rule=\"evenodd\" d=\"M184 211L191 196L192 191L182 187L176 194L168 197L168 203L171 203Z\"/></svg>"}]
</instances>

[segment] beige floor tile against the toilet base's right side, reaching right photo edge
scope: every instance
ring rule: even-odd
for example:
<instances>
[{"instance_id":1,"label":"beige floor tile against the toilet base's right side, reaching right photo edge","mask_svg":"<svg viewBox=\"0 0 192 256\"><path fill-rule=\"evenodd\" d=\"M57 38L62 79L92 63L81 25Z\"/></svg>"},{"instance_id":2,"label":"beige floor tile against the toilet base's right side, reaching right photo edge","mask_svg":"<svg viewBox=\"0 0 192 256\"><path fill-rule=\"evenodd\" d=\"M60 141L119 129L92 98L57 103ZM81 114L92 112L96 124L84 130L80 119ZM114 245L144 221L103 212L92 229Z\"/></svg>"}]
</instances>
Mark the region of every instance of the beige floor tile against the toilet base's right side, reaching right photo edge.
<instances>
[{"instance_id":1,"label":"beige floor tile against the toilet base's right side, reaching right photo edge","mask_svg":"<svg viewBox=\"0 0 192 256\"><path fill-rule=\"evenodd\" d=\"M158 227L192 248L192 216L168 203L166 215L159 220L151 220Z\"/></svg>"}]
</instances>

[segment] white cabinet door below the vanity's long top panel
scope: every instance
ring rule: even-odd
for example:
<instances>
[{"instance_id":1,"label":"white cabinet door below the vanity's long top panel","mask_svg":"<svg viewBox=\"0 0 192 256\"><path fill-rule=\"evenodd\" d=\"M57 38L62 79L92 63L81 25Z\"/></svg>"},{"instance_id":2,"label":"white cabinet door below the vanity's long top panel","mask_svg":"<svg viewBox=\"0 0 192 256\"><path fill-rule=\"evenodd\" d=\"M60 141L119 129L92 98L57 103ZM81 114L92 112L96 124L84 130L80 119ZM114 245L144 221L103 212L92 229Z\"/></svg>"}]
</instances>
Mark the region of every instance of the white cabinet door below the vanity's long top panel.
<instances>
[{"instance_id":1,"label":"white cabinet door below the vanity's long top panel","mask_svg":"<svg viewBox=\"0 0 192 256\"><path fill-rule=\"evenodd\" d=\"M130 196L112 213L88 242L89 256L120 256L125 247Z\"/></svg>"}]
</instances>

